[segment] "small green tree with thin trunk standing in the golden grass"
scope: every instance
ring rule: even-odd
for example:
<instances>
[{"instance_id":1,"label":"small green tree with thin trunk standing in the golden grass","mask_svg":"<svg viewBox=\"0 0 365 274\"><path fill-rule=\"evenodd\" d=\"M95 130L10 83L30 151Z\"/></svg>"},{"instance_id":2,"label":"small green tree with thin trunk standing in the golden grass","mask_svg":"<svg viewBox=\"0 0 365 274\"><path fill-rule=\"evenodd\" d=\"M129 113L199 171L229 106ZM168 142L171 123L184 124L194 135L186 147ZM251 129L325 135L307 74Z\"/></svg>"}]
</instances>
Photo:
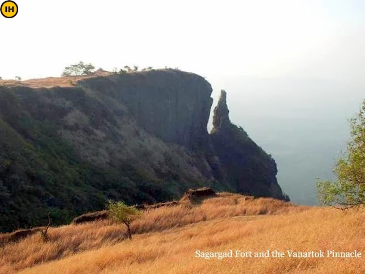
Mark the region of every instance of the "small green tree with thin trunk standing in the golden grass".
<instances>
[{"instance_id":1,"label":"small green tree with thin trunk standing in the golden grass","mask_svg":"<svg viewBox=\"0 0 365 274\"><path fill-rule=\"evenodd\" d=\"M127 226L128 238L132 239L130 225L132 221L140 214L140 211L135 207L128 207L124 202L109 201L108 204L109 218L118 223L123 223Z\"/></svg>"}]
</instances>

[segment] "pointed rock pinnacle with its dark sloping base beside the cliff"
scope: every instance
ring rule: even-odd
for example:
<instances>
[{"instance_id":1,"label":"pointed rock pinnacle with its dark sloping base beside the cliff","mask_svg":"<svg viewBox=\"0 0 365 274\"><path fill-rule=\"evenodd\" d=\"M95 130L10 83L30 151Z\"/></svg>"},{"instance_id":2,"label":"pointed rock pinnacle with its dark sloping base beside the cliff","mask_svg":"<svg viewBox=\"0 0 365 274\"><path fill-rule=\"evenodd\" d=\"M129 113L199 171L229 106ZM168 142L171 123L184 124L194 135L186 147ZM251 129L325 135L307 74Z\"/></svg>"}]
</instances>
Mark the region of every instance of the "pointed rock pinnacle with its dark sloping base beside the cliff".
<instances>
[{"instance_id":1,"label":"pointed rock pinnacle with its dark sloping base beside the cliff","mask_svg":"<svg viewBox=\"0 0 365 274\"><path fill-rule=\"evenodd\" d=\"M274 159L241 127L231 123L226 97L222 90L214 109L214 127L210 134L219 158L220 179L240 193L288 200L277 183Z\"/></svg>"}]
</instances>

